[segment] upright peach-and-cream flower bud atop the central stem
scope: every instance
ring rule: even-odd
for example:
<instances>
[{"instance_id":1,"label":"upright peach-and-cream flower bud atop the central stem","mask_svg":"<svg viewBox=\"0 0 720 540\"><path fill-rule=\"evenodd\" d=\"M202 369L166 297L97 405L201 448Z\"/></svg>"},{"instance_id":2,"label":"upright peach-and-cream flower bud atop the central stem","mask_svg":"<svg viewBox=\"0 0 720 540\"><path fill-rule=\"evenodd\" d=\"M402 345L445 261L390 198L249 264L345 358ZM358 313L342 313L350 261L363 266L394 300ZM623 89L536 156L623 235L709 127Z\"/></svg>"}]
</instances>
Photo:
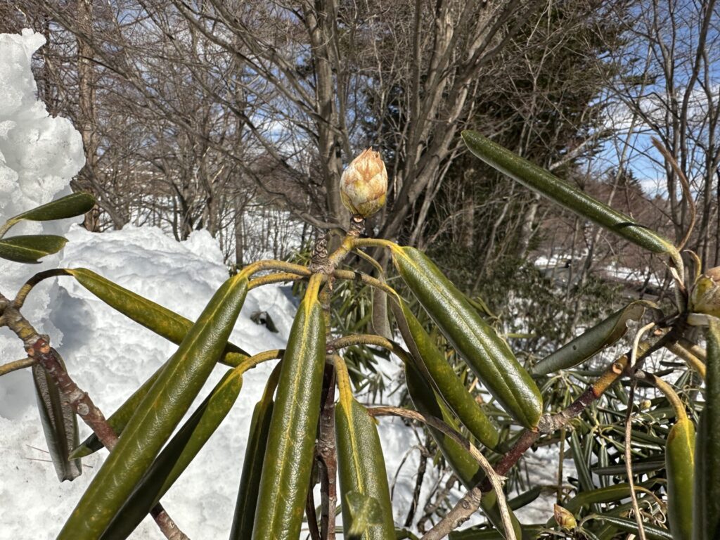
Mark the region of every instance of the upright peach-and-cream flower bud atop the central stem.
<instances>
[{"instance_id":1,"label":"upright peach-and-cream flower bud atop the central stem","mask_svg":"<svg viewBox=\"0 0 720 540\"><path fill-rule=\"evenodd\" d=\"M343 171L340 198L354 216L368 217L385 204L387 171L378 152L368 148Z\"/></svg>"}]
</instances>

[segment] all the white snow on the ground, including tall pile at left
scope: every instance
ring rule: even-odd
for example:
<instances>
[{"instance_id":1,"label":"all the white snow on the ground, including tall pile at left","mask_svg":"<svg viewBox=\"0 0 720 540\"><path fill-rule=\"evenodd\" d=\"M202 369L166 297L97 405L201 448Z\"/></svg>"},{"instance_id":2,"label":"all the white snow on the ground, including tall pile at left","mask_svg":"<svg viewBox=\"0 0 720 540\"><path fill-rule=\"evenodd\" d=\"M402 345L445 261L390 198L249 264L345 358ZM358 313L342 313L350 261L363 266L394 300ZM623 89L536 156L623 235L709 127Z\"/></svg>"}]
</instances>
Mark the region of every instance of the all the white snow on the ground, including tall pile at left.
<instances>
[{"instance_id":1,"label":"all the white snow on the ground, including tall pile at left","mask_svg":"<svg viewBox=\"0 0 720 540\"><path fill-rule=\"evenodd\" d=\"M84 163L81 140L70 122L48 117L35 101L30 57L44 38L30 31L0 35L0 223L12 215L49 202L69 192L68 183ZM132 289L188 318L195 318L215 289L227 277L220 248L205 231L178 243L158 228L127 227L93 234L73 225L76 220L29 223L15 233L58 233L69 243L57 256L28 266L0 259L0 292L14 295L36 271L56 267L84 267ZM250 320L255 311L267 311L278 333ZM66 360L68 372L108 415L163 361L175 346L117 314L70 277L43 282L32 292L24 315ZM253 290L243 306L232 340L255 353L282 348L295 312L287 289L278 286ZM0 363L24 356L21 343L0 329ZM382 359L379 359L383 362ZM253 405L264 389L272 363L249 372L228 418L195 462L171 488L163 504L193 539L228 535L240 480ZM221 376L218 368L205 392ZM385 362L382 371L397 379L399 363ZM199 400L204 397L204 393ZM418 469L413 429L400 420L383 418L379 432L393 485L395 521L408 513ZM81 426L81 438L89 434ZM52 539L58 534L86 486L107 455L84 459L84 473L73 482L59 483L45 450L30 372L0 377L0 539ZM408 454L408 459L400 468ZM531 459L547 461L547 456ZM541 482L557 482L545 467ZM418 508L438 478L434 469L423 482ZM459 492L454 493L459 495ZM536 503L528 521L542 521L552 512L548 500ZM523 515L521 514L521 517ZM482 521L478 518L475 521ZM470 524L470 523L468 523ZM133 538L161 538L154 523L145 520Z\"/></svg>"}]
</instances>

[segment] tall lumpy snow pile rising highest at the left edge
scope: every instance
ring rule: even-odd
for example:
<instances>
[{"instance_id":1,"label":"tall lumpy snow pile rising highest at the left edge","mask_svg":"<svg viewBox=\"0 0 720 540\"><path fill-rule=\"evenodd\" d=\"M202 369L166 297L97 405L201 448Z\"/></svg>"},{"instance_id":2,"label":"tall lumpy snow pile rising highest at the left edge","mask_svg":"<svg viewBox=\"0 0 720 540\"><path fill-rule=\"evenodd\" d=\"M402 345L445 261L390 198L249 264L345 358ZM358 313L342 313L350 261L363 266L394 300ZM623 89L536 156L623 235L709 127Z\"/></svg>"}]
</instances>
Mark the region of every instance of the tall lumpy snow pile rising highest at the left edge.
<instances>
[{"instance_id":1,"label":"tall lumpy snow pile rising highest at the left edge","mask_svg":"<svg viewBox=\"0 0 720 540\"><path fill-rule=\"evenodd\" d=\"M45 43L45 37L23 30L22 35L0 35L0 220L50 202L70 193L71 178L85 163L80 134L65 118L48 115L37 101L37 87L30 71L30 58ZM62 234L71 221L16 225L10 235ZM57 265L57 256L48 257L32 269L40 271ZM0 259L0 292L10 295L29 276L28 267ZM45 289L38 291L24 309L25 315L41 320L48 305ZM38 328L49 332L52 328ZM0 358L24 356L17 338L7 339L0 330ZM0 381L0 414L4 396L14 386L14 377Z\"/></svg>"}]
</instances>

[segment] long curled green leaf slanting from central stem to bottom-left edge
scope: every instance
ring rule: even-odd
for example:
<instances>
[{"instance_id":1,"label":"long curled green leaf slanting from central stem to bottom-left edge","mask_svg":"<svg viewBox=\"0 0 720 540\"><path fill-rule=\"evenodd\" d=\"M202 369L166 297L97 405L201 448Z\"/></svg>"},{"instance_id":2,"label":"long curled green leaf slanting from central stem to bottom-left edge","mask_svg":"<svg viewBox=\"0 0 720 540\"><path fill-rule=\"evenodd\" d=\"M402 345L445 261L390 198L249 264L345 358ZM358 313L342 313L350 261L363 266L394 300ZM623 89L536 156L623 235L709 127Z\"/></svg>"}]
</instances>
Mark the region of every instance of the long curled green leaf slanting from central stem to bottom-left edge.
<instances>
[{"instance_id":1,"label":"long curled green leaf slanting from central stem to bottom-left edge","mask_svg":"<svg viewBox=\"0 0 720 540\"><path fill-rule=\"evenodd\" d=\"M217 290L138 405L58 539L94 540L107 528L220 359L247 290L245 274L233 276Z\"/></svg>"}]
</instances>

